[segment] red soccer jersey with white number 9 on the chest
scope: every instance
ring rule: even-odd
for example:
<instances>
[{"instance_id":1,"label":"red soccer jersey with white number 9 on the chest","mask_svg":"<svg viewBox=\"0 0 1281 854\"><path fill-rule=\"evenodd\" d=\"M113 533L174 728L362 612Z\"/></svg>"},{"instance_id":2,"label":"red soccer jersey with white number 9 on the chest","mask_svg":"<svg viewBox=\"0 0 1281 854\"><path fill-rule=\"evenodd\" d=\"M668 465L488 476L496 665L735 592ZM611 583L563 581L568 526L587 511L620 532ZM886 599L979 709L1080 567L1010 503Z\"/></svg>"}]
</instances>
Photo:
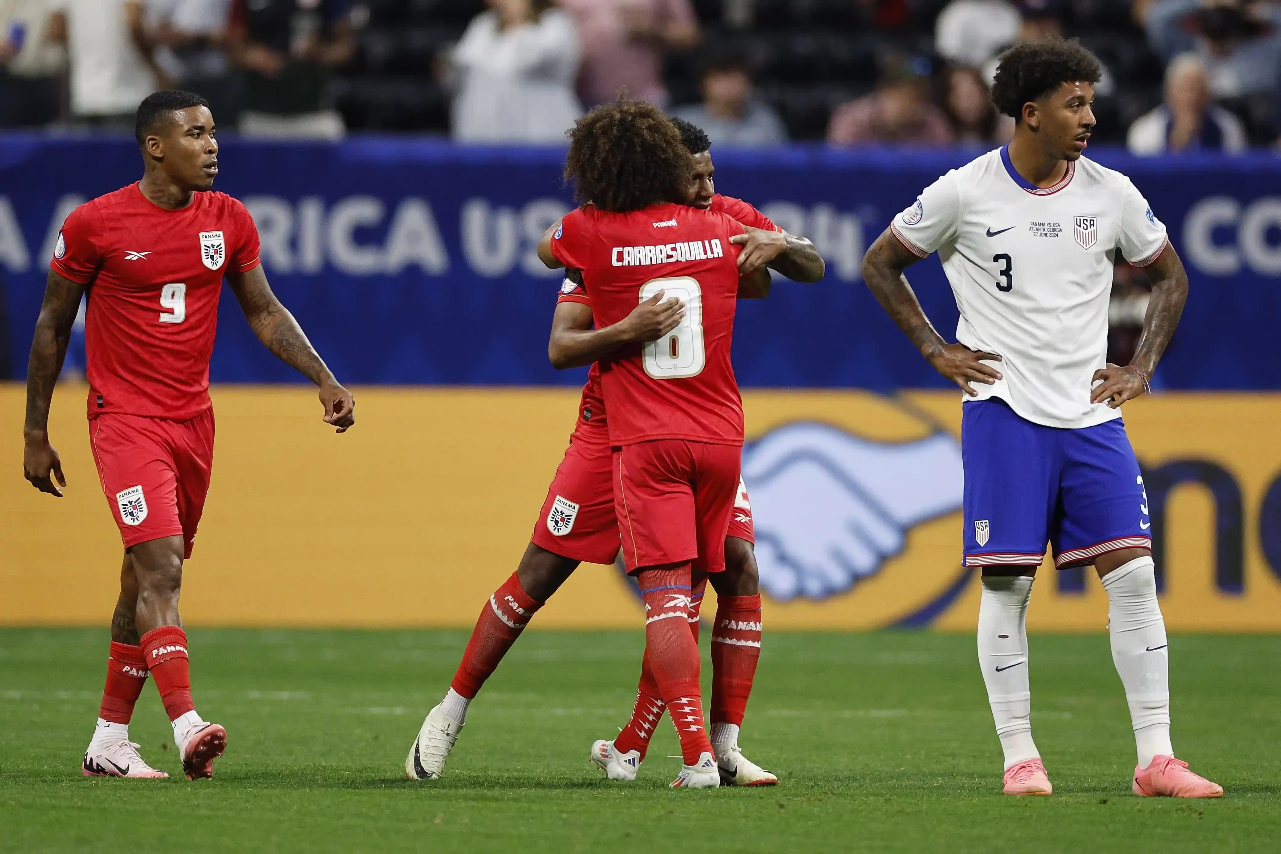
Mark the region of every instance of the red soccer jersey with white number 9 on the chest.
<instances>
[{"instance_id":1,"label":"red soccer jersey with white number 9 on the chest","mask_svg":"<svg viewBox=\"0 0 1281 854\"><path fill-rule=\"evenodd\" d=\"M88 416L186 421L209 408L223 274L257 264L254 220L227 193L165 210L129 184L73 210L51 266L88 286Z\"/></svg>"}]
</instances>

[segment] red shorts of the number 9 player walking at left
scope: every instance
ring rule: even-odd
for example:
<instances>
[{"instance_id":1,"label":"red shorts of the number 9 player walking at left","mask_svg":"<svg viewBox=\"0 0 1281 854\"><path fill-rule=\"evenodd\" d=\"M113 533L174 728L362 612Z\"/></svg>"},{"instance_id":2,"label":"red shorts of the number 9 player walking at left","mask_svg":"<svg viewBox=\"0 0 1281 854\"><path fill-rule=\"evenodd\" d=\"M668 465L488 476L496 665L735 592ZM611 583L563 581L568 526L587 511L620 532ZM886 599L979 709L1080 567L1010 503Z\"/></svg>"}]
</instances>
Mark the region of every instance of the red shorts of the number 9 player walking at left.
<instances>
[{"instance_id":1,"label":"red shorts of the number 9 player walking at left","mask_svg":"<svg viewBox=\"0 0 1281 854\"><path fill-rule=\"evenodd\" d=\"M214 463L214 411L190 421L99 415L88 442L124 548L182 536L191 557Z\"/></svg>"}]
</instances>

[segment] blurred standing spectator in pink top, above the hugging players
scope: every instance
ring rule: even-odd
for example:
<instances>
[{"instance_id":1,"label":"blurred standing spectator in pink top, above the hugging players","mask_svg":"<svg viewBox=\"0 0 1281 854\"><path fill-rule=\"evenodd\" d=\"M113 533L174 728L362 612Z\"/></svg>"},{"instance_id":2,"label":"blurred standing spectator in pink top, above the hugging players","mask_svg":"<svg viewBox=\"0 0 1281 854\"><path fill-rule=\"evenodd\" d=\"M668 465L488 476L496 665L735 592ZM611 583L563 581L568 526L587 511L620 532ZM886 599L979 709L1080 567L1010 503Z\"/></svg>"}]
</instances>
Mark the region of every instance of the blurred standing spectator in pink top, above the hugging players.
<instances>
[{"instance_id":1,"label":"blurred standing spectator in pink top, above the hugging players","mask_svg":"<svg viewBox=\"0 0 1281 854\"><path fill-rule=\"evenodd\" d=\"M698 44L689 0L560 0L578 23L583 68L578 93L588 106L612 101L619 90L660 106L667 104L662 58Z\"/></svg>"}]
</instances>

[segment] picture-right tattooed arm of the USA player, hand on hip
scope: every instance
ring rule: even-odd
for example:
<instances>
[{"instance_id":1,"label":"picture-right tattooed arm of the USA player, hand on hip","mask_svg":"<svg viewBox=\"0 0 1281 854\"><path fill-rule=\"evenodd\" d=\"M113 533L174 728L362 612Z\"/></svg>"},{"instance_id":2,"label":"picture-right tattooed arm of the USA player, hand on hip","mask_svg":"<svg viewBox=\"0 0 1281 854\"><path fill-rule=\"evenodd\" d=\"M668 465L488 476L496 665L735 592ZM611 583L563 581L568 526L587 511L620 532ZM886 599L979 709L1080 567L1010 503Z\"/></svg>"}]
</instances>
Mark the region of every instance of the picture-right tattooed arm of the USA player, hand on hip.
<instances>
[{"instance_id":1,"label":"picture-right tattooed arm of the USA player, hand on hip","mask_svg":"<svg viewBox=\"0 0 1281 854\"><path fill-rule=\"evenodd\" d=\"M1173 245L1166 243L1157 260L1143 268L1143 271L1152 283L1152 300L1143 319L1139 347L1129 365L1108 365L1094 371L1094 380L1099 384L1090 396L1091 403L1107 401L1108 406L1117 408L1126 401L1150 392L1152 374L1184 314L1184 303L1187 302L1187 270Z\"/></svg>"}]
</instances>

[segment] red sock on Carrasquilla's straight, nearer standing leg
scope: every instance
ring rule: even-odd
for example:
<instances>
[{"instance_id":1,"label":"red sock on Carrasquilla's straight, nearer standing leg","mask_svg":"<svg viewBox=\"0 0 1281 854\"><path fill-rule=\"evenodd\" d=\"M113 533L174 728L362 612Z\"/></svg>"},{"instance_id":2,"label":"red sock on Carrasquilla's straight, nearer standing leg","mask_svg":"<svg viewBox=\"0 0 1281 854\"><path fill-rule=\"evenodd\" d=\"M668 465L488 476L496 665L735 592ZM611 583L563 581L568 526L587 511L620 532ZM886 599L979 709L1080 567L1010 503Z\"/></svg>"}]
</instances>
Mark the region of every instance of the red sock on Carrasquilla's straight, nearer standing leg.
<instances>
[{"instance_id":1,"label":"red sock on Carrasquilla's straight, nearer standing leg","mask_svg":"<svg viewBox=\"0 0 1281 854\"><path fill-rule=\"evenodd\" d=\"M697 764L701 753L712 753L712 744L707 739L698 686L698 644L689 631L689 565L643 570L639 581L646 611L646 656L676 727L680 754L687 766Z\"/></svg>"}]
</instances>

